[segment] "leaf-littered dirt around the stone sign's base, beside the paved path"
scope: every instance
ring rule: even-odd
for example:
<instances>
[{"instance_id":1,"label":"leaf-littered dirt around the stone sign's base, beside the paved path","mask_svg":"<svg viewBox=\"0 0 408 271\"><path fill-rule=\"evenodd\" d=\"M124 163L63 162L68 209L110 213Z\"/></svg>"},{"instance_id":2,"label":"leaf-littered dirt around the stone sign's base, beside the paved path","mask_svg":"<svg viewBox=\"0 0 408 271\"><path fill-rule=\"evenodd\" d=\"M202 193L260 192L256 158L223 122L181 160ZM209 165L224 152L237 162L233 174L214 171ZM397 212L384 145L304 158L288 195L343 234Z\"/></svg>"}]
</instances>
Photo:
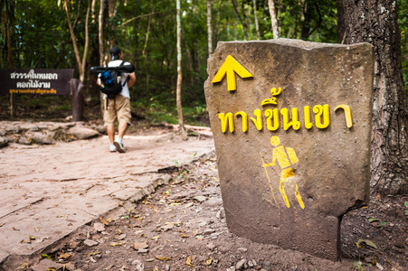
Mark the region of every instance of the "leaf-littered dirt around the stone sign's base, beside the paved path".
<instances>
[{"instance_id":1,"label":"leaf-littered dirt around the stone sign's base, beside the paved path","mask_svg":"<svg viewBox=\"0 0 408 271\"><path fill-rule=\"evenodd\" d=\"M398 215L401 209L397 202L376 200L372 208L346 217L342 233L345 257L332 262L232 235L224 218L219 184L214 157L190 164L142 201L127 202L124 208L93 220L43 250L53 261L38 254L8 260L4 267L63 270L65 266L65 270L77 271L407 270L406 250L402 249L406 233L399 231L407 224ZM376 228L367 221L373 216L392 225L387 230ZM390 233L394 238L388 238ZM377 248L365 243L357 248L359 238L372 240Z\"/></svg>"}]
</instances>

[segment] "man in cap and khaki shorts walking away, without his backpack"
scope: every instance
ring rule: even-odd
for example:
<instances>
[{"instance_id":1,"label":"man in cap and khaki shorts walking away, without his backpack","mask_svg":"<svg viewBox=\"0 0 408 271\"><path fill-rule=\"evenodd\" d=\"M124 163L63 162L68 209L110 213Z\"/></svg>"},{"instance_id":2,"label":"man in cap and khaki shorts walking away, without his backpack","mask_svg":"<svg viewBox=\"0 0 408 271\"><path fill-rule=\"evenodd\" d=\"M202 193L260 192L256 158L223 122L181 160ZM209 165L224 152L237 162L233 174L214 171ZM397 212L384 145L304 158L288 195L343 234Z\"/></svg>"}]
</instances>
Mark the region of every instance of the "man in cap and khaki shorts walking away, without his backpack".
<instances>
[{"instance_id":1,"label":"man in cap and khaki shorts walking away, without his backpack","mask_svg":"<svg viewBox=\"0 0 408 271\"><path fill-rule=\"evenodd\" d=\"M122 53L119 47L114 46L109 50L111 61L108 63L108 67L119 67L120 65L130 64L129 62L122 61ZM123 63L124 62L124 63ZM108 97L103 95L104 99L104 111L103 121L107 127L107 133L109 136L109 150L110 152L125 153L126 149L123 145L123 136L126 133L128 125L130 124L130 93L129 89L136 82L135 72L120 73L120 83L122 90L118 95ZM98 84L101 85L100 76L98 78ZM118 126L118 138L115 140L115 125L119 122Z\"/></svg>"}]
</instances>

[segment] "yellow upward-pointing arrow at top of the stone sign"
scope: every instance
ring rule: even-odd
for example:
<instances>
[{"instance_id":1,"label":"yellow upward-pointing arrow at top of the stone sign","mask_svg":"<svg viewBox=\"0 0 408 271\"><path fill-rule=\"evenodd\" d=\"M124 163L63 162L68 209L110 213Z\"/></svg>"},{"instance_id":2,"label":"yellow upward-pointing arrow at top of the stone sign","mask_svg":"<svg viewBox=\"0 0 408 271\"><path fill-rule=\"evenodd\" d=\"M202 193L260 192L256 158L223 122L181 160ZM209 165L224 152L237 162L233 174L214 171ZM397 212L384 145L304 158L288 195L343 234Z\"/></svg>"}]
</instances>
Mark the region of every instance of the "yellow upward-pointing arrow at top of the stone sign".
<instances>
[{"instance_id":1,"label":"yellow upward-pointing arrow at top of the stone sign","mask_svg":"<svg viewBox=\"0 0 408 271\"><path fill-rule=\"evenodd\" d=\"M217 74L215 74L211 82L212 83L221 82L226 74L228 90L230 91L236 90L237 84L235 81L235 72L239 76L241 76L241 78L253 77L251 73L245 68L243 68L242 65L238 61L235 61L235 59L231 55L228 55L227 59L223 62L223 65L221 65L220 70L218 70Z\"/></svg>"}]
</instances>

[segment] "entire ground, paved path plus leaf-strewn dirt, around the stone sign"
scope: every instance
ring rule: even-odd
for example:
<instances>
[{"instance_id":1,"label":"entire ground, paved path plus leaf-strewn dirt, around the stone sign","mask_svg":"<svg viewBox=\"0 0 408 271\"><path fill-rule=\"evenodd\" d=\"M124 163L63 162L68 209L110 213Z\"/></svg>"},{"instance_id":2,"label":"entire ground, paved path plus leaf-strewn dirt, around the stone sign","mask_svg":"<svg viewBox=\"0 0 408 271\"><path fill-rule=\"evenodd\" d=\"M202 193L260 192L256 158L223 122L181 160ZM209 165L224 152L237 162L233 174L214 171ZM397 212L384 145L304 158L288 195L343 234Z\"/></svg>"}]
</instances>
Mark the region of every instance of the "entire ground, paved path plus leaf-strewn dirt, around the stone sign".
<instances>
[{"instance_id":1,"label":"entire ground, paved path plus leaf-strewn dirt, around the stone sign","mask_svg":"<svg viewBox=\"0 0 408 271\"><path fill-rule=\"evenodd\" d=\"M0 149L0 270L408 270L407 196L348 213L339 262L254 243L228 231L213 140L164 132Z\"/></svg>"}]
</instances>

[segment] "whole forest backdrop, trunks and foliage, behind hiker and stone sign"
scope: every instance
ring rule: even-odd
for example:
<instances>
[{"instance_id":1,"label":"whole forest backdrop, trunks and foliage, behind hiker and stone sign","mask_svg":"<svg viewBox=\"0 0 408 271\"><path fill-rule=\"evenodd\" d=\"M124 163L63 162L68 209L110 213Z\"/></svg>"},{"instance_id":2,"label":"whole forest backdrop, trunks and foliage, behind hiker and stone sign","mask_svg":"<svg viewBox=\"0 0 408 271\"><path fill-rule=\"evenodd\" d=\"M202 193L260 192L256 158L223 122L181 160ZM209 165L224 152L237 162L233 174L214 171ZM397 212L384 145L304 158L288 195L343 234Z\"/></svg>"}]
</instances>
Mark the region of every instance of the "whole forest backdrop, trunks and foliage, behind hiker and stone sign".
<instances>
[{"instance_id":1,"label":"whole forest backdrop, trunks and foliage, behind hiker and stone sign","mask_svg":"<svg viewBox=\"0 0 408 271\"><path fill-rule=\"evenodd\" d=\"M85 109L98 109L90 67L107 63L117 45L136 67L132 113L172 124L180 92L185 123L205 116L207 58L219 41L370 42L372 191L408 192L408 0L0 0L0 8L0 69L74 69ZM71 115L71 97L14 96L1 97L1 118L12 99L17 118Z\"/></svg>"}]
</instances>

